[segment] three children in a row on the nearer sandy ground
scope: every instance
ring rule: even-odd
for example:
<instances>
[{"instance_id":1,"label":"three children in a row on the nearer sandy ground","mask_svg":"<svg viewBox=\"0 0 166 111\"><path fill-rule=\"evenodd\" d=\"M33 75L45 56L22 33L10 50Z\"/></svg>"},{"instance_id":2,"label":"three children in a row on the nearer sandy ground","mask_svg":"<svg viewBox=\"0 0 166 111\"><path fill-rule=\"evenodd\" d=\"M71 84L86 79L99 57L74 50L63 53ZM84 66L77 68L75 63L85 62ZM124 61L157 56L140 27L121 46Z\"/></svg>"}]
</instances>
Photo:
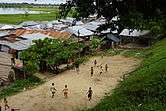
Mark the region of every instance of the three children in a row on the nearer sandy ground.
<instances>
[{"instance_id":1,"label":"three children in a row on the nearer sandy ground","mask_svg":"<svg viewBox=\"0 0 166 111\"><path fill-rule=\"evenodd\" d=\"M50 88L50 91L51 91L51 93L52 93L52 96L51 96L51 97L54 98L54 95L55 95L55 93L56 93L56 91L57 91L57 89L56 89L55 86L54 86L54 83L52 83L52 86L51 86L51 88ZM68 90L68 86L65 85L65 88L62 90L62 92L63 92L65 98L68 98L68 91L69 91L69 90ZM92 93L93 93L92 88L89 87L89 90L88 90L88 92L87 92L89 101L92 99Z\"/></svg>"}]
</instances>

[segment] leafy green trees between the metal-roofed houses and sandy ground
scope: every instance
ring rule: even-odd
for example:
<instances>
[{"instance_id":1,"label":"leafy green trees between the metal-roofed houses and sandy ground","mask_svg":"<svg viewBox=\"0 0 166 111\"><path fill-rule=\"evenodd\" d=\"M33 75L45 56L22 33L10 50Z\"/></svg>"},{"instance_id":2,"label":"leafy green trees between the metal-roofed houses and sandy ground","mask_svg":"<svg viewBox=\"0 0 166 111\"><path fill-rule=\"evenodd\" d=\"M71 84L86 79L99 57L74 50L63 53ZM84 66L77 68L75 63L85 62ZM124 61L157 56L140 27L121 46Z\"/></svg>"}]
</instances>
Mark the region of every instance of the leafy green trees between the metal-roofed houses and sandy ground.
<instances>
[{"instance_id":1,"label":"leafy green trees between the metal-roofed houses and sandy ground","mask_svg":"<svg viewBox=\"0 0 166 111\"><path fill-rule=\"evenodd\" d=\"M71 40L49 39L34 41L34 45L21 54L26 72L45 71L47 65L58 67L62 62L76 58L84 45ZM44 69L43 69L44 68Z\"/></svg>"}]
</instances>

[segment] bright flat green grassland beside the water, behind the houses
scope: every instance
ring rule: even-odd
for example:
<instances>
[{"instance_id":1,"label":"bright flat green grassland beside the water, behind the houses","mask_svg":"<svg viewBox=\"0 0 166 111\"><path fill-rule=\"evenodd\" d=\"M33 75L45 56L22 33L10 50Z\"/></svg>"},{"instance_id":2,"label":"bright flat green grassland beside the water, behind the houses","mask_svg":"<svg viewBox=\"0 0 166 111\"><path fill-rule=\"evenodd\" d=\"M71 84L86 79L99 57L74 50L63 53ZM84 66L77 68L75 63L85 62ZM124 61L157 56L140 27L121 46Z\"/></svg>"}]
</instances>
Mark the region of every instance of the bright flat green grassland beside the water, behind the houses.
<instances>
[{"instance_id":1,"label":"bright flat green grassland beside the water, behind the houses","mask_svg":"<svg viewBox=\"0 0 166 111\"><path fill-rule=\"evenodd\" d=\"M44 14L28 14L28 16L25 16L25 14L4 14L0 15L0 23L5 24L19 24L24 21L51 21L56 20L58 17L58 8L49 8L49 7L33 7L29 8L33 11L45 11L49 13ZM68 16L72 16L75 13L74 9L72 9Z\"/></svg>"}]
</instances>

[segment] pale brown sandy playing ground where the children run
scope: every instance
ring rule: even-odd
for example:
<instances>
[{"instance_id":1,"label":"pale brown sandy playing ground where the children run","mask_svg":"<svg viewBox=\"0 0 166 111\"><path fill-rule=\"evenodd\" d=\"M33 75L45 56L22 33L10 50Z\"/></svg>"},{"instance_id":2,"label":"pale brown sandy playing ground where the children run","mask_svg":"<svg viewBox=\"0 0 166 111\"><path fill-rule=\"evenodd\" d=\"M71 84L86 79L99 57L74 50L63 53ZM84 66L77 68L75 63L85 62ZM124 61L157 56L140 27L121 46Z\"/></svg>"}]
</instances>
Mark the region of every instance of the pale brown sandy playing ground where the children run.
<instances>
[{"instance_id":1,"label":"pale brown sandy playing ground where the children run","mask_svg":"<svg viewBox=\"0 0 166 111\"><path fill-rule=\"evenodd\" d=\"M109 71L99 75L99 68L94 67L94 76L90 77L90 67L94 66L95 59L103 66L107 63ZM138 59L122 56L94 57L80 66L79 74L75 70L66 71L37 88L9 97L8 102L11 107L20 108L20 111L76 111L90 108L117 86L122 75L134 70L139 63ZM55 97L51 98L49 89L53 82L57 92ZM65 99L62 93L65 84L69 88L68 99ZM88 101L86 95L89 87L92 87L94 92L91 101Z\"/></svg>"}]
</instances>

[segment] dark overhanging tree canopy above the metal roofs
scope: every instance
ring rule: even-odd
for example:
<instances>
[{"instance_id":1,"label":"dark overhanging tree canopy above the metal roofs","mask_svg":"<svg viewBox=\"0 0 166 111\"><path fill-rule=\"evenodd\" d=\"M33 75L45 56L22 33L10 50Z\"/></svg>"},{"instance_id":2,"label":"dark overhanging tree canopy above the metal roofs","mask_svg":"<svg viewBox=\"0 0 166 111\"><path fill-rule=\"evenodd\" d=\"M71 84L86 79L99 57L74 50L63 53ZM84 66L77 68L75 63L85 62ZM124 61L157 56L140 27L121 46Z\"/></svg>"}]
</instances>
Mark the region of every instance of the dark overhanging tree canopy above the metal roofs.
<instances>
[{"instance_id":1,"label":"dark overhanging tree canopy above the metal roofs","mask_svg":"<svg viewBox=\"0 0 166 111\"><path fill-rule=\"evenodd\" d=\"M70 6L76 7L79 17L83 18L96 13L110 21L118 16L120 21L114 24L121 29L150 29L155 33L165 33L165 0L72 0ZM112 27L110 24L105 26Z\"/></svg>"}]
</instances>

